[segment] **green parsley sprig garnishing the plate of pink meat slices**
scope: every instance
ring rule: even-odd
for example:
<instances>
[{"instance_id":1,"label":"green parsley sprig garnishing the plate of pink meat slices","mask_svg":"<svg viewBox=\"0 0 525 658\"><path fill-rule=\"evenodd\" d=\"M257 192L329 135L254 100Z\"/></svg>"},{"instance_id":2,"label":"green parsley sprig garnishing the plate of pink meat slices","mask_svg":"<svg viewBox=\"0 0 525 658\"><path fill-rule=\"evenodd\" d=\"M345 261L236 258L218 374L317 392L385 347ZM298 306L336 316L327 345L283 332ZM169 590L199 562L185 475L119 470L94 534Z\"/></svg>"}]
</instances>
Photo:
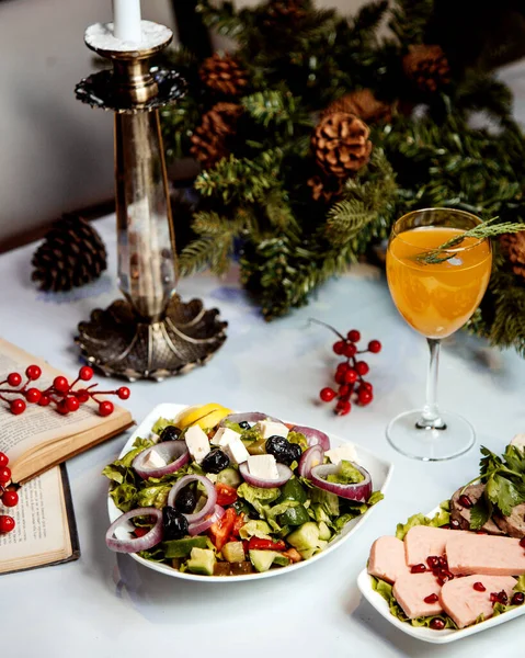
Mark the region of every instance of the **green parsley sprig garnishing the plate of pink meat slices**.
<instances>
[{"instance_id":1,"label":"green parsley sprig garnishing the plate of pink meat slices","mask_svg":"<svg viewBox=\"0 0 525 658\"><path fill-rule=\"evenodd\" d=\"M486 485L483 495L470 508L470 527L479 530L499 510L510 517L516 504L525 502L525 451L507 445L503 458L481 447L480 474L465 485L464 490L477 481Z\"/></svg>"}]
</instances>

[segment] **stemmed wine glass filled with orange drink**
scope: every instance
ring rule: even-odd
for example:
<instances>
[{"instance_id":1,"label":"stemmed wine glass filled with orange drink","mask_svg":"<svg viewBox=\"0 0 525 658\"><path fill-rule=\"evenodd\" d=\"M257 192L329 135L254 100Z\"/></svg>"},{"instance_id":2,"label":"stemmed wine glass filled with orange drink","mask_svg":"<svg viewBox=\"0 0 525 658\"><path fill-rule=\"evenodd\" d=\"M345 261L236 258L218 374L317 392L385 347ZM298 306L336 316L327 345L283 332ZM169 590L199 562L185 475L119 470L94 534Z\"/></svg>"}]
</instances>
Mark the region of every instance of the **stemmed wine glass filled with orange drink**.
<instances>
[{"instance_id":1,"label":"stemmed wine glass filled with orange drink","mask_svg":"<svg viewBox=\"0 0 525 658\"><path fill-rule=\"evenodd\" d=\"M459 238L481 219L449 208L408 213L392 227L387 251L390 294L407 322L430 348L426 404L390 421L387 438L400 453L423 461L450 460L475 443L472 426L437 407L440 341L471 317L484 295L492 269L490 240ZM456 246L437 250L458 238Z\"/></svg>"}]
</instances>

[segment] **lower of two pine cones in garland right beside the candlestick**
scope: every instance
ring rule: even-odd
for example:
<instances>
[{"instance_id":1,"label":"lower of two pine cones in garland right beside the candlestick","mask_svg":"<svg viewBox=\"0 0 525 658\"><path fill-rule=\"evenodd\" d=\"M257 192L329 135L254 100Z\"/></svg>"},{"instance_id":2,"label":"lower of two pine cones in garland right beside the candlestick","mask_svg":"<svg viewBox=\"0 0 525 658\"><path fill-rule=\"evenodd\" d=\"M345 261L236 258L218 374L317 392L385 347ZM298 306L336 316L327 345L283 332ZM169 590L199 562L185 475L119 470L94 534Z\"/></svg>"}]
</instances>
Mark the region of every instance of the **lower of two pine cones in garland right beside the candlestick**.
<instances>
[{"instance_id":1,"label":"lower of two pine cones in garland right beside the candlestick","mask_svg":"<svg viewBox=\"0 0 525 658\"><path fill-rule=\"evenodd\" d=\"M202 162L204 169L228 156L228 141L236 134L237 121L241 114L241 105L235 103L217 103L203 114L201 125L192 135L190 152Z\"/></svg>"}]
</instances>

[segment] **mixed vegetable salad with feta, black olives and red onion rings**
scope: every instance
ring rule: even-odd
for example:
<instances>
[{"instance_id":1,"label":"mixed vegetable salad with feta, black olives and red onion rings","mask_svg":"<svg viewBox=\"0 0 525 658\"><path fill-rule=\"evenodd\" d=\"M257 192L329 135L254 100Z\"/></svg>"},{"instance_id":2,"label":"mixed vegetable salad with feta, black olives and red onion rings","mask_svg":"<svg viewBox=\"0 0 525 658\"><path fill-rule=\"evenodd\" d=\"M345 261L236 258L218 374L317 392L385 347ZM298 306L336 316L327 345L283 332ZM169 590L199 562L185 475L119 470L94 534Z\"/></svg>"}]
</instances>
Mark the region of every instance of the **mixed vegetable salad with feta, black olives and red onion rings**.
<instances>
[{"instance_id":1,"label":"mixed vegetable salad with feta, black olives and red onion rings","mask_svg":"<svg viewBox=\"0 0 525 658\"><path fill-rule=\"evenodd\" d=\"M309 559L383 499L355 458L266 413L186 408L104 468L123 512L107 546L203 576Z\"/></svg>"}]
</instances>

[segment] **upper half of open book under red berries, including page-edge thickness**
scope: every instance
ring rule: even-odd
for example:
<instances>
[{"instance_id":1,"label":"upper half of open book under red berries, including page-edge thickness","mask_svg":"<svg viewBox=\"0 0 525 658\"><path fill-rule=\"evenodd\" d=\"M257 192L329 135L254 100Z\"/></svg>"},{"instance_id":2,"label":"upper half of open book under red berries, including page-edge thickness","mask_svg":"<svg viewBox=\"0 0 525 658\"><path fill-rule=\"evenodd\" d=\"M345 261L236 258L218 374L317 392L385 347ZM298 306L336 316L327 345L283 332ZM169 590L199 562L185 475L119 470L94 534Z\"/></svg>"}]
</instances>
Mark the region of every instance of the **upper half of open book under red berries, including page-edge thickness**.
<instances>
[{"instance_id":1,"label":"upper half of open book under red berries, including page-edge thickness","mask_svg":"<svg viewBox=\"0 0 525 658\"><path fill-rule=\"evenodd\" d=\"M35 383L44 388L53 383L59 371L42 359L0 339L0 377L19 372L24 376L32 363L39 365L42 377ZM111 416L101 417L91 400L78 411L60 416L53 407L27 405L21 416L13 416L0 400L0 451L9 457L12 480L22 484L52 466L110 439L133 424L129 411L115 405Z\"/></svg>"}]
</instances>

